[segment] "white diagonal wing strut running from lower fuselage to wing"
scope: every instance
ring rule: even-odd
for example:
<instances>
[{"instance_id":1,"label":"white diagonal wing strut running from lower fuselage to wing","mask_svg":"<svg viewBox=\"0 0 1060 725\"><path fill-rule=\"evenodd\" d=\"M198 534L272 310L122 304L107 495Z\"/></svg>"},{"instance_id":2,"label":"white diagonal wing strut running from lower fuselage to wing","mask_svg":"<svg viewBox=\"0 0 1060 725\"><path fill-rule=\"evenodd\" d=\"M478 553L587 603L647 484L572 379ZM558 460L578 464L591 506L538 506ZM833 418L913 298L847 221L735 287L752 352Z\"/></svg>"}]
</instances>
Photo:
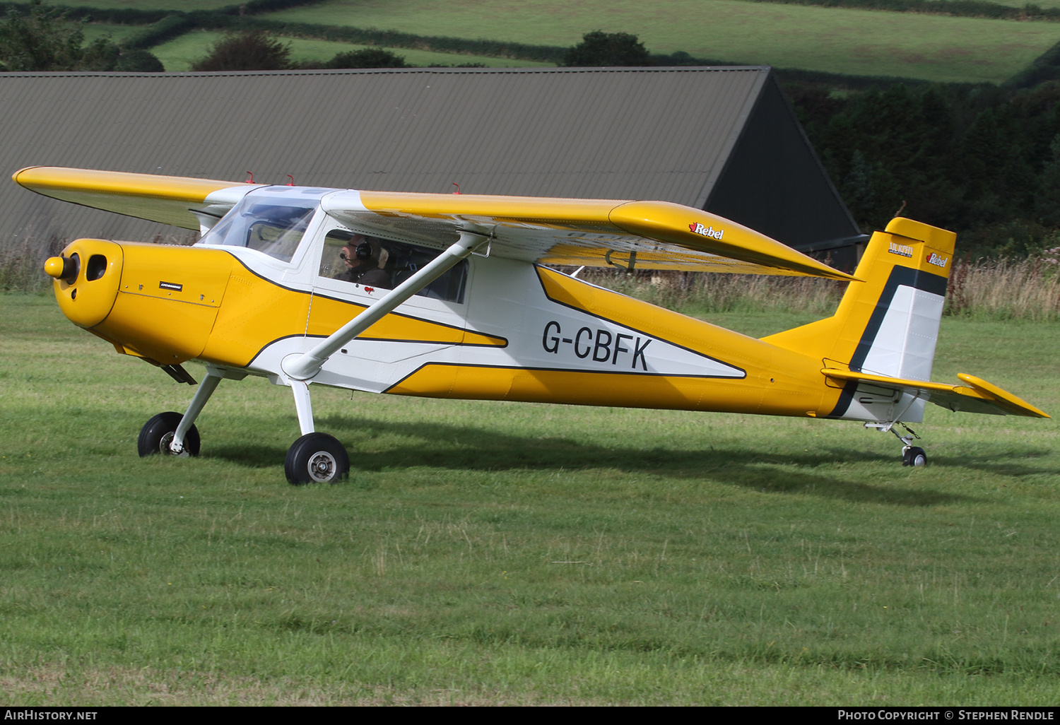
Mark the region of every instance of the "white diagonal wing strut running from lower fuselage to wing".
<instances>
[{"instance_id":1,"label":"white diagonal wing strut running from lower fuselage to wing","mask_svg":"<svg viewBox=\"0 0 1060 725\"><path fill-rule=\"evenodd\" d=\"M460 230L460 238L448 249L436 257L429 264L402 282L379 301L372 303L359 315L320 341L317 347L302 355L290 355L281 364L284 374L296 381L307 381L318 372L328 358L339 348L393 312L394 307L416 295L437 280L458 262L471 255L476 248L487 242L489 235L467 229Z\"/></svg>"}]
</instances>

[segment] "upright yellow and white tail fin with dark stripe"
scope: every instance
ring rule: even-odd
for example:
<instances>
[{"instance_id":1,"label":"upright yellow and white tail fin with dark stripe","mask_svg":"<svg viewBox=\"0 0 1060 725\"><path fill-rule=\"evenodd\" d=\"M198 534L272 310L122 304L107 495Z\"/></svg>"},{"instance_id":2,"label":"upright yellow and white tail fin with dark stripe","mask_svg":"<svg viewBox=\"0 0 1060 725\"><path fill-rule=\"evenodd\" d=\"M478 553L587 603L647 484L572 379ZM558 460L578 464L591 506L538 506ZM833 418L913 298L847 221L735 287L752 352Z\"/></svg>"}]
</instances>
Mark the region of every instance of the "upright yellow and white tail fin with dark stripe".
<instances>
[{"instance_id":1,"label":"upright yellow and white tail fin with dark stripe","mask_svg":"<svg viewBox=\"0 0 1060 725\"><path fill-rule=\"evenodd\" d=\"M854 272L864 281L850 283L835 315L763 340L818 357L826 368L930 379L955 240L944 229L904 217L891 219L886 231L869 240ZM877 419L872 396L866 399L865 410L858 410L862 406L851 407L858 386L846 387L850 390L844 390L831 417ZM888 400L887 407L891 403ZM916 422L922 410L919 401L902 420Z\"/></svg>"}]
</instances>

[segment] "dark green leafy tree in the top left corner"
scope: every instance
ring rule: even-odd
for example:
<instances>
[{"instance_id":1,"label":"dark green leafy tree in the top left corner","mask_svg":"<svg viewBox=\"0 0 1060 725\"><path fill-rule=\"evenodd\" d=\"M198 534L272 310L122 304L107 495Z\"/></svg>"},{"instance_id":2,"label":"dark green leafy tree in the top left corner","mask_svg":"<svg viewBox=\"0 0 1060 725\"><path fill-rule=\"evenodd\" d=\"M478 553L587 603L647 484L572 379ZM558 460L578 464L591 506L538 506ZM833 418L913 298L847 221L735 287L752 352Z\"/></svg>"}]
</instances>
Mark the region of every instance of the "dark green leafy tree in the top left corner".
<instances>
[{"instance_id":1,"label":"dark green leafy tree in the top left corner","mask_svg":"<svg viewBox=\"0 0 1060 725\"><path fill-rule=\"evenodd\" d=\"M108 38L83 47L82 23L32 0L25 15L7 11L0 21L0 66L5 71L113 70L120 51Z\"/></svg>"}]
</instances>

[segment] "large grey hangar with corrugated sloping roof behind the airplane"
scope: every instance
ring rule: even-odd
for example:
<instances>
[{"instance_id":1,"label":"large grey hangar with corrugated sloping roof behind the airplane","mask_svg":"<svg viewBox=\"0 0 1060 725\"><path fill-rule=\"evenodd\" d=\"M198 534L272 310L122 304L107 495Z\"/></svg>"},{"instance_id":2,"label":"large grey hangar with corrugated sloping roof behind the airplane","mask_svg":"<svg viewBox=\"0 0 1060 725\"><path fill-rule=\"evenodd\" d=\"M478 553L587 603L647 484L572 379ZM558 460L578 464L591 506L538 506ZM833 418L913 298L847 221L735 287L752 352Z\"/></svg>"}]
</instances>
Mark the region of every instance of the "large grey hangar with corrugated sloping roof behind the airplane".
<instances>
[{"instance_id":1,"label":"large grey hangar with corrugated sloping roof behind the airplane","mask_svg":"<svg viewBox=\"0 0 1060 725\"><path fill-rule=\"evenodd\" d=\"M0 89L8 174L252 174L436 193L457 183L676 201L837 258L865 238L764 67L0 73ZM10 241L187 241L13 183L0 205Z\"/></svg>"}]
</instances>

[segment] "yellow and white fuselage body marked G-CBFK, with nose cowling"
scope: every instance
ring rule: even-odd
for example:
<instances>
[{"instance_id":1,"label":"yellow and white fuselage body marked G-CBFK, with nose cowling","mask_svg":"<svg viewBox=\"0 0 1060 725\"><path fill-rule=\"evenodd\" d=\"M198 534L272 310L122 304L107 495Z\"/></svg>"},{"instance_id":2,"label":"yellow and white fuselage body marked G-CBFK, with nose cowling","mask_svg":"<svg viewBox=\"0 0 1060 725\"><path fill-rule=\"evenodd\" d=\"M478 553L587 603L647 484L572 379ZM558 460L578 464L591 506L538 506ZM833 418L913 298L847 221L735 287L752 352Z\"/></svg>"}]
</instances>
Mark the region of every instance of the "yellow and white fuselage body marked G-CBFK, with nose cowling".
<instances>
[{"instance_id":1,"label":"yellow and white fuselage body marked G-CBFK, with nose cowling","mask_svg":"<svg viewBox=\"0 0 1060 725\"><path fill-rule=\"evenodd\" d=\"M282 384L285 357L386 293L326 273L321 258L334 226L311 225L289 260L237 246L78 240L64 254L96 259L98 267L104 258L104 271L57 282L56 296L71 320L120 352ZM458 295L411 298L332 356L312 383L802 417L835 406L840 390L826 384L820 359L520 260L473 257L460 273Z\"/></svg>"}]
</instances>

